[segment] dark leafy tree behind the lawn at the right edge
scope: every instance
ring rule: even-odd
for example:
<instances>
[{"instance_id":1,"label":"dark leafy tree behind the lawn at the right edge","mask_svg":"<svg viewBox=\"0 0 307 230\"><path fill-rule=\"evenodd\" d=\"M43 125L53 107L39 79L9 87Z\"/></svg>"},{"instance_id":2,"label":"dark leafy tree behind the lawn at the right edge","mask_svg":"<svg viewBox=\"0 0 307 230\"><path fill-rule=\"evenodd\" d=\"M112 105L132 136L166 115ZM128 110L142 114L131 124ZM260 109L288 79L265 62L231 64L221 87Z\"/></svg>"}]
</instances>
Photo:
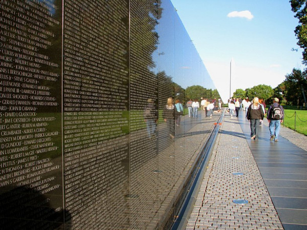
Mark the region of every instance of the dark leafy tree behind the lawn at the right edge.
<instances>
[{"instance_id":1,"label":"dark leafy tree behind the lawn at the right edge","mask_svg":"<svg viewBox=\"0 0 307 230\"><path fill-rule=\"evenodd\" d=\"M286 75L285 97L292 105L299 105L303 101L306 105L306 87L307 87L307 69L303 72L300 69L293 68L290 74Z\"/></svg>"}]
</instances>

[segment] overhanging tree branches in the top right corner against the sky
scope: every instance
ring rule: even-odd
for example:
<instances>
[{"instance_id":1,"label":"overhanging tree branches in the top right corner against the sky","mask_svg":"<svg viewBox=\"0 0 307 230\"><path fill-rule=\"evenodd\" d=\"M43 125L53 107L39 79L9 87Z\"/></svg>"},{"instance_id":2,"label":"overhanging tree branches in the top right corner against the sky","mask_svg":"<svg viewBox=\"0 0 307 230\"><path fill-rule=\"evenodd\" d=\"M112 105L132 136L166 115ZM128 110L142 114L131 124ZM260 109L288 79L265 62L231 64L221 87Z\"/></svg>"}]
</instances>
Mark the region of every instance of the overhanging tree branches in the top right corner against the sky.
<instances>
[{"instance_id":1,"label":"overhanging tree branches in the top right corner against the sky","mask_svg":"<svg viewBox=\"0 0 307 230\"><path fill-rule=\"evenodd\" d=\"M297 45L303 49L303 64L307 64L307 0L290 0L292 11L298 19L294 32L298 39Z\"/></svg>"}]
</instances>

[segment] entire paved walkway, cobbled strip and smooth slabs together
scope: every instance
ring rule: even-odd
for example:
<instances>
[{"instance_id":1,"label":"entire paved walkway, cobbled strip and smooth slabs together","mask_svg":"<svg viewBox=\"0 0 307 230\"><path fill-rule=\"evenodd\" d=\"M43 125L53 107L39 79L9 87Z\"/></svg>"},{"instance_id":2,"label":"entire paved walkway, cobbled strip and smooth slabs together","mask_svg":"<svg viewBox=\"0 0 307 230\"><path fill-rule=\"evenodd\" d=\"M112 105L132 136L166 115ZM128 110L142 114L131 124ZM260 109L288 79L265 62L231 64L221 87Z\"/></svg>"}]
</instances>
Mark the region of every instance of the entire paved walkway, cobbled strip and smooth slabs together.
<instances>
[{"instance_id":1,"label":"entire paved walkway, cobbled strip and smooth slabs together","mask_svg":"<svg viewBox=\"0 0 307 230\"><path fill-rule=\"evenodd\" d=\"M244 112L226 114L186 229L307 229L306 151L279 140L266 123L251 140Z\"/></svg>"}]
</instances>

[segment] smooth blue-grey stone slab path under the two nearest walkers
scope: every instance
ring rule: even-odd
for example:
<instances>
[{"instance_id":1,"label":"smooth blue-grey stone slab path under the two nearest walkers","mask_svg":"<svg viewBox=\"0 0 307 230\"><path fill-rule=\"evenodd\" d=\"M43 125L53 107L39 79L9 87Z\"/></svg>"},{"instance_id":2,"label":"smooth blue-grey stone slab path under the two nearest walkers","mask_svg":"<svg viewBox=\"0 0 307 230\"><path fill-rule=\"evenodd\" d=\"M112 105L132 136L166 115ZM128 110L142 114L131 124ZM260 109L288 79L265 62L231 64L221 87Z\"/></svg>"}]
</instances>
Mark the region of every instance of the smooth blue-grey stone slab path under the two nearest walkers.
<instances>
[{"instance_id":1,"label":"smooth blue-grey stone slab path under the two nearest walkers","mask_svg":"<svg viewBox=\"0 0 307 230\"><path fill-rule=\"evenodd\" d=\"M307 229L306 151L281 136L269 141L268 127L250 141L249 122L241 118L240 124L284 229Z\"/></svg>"}]
</instances>

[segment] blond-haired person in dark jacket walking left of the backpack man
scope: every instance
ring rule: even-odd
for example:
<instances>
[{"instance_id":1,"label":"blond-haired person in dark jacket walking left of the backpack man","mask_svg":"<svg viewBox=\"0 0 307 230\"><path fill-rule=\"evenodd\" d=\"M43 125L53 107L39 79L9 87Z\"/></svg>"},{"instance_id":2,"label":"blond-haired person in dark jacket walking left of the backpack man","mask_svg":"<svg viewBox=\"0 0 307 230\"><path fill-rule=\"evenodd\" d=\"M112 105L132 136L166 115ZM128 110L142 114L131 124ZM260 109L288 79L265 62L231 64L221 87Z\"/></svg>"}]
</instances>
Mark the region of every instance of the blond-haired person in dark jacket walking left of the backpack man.
<instances>
[{"instance_id":1,"label":"blond-haired person in dark jacket walking left of the backpack man","mask_svg":"<svg viewBox=\"0 0 307 230\"><path fill-rule=\"evenodd\" d=\"M253 103L247 110L247 119L250 120L251 123L251 139L255 140L258 138L258 130L260 120L263 120L264 114L261 104L259 103L259 99L255 97L253 99Z\"/></svg>"}]
</instances>

